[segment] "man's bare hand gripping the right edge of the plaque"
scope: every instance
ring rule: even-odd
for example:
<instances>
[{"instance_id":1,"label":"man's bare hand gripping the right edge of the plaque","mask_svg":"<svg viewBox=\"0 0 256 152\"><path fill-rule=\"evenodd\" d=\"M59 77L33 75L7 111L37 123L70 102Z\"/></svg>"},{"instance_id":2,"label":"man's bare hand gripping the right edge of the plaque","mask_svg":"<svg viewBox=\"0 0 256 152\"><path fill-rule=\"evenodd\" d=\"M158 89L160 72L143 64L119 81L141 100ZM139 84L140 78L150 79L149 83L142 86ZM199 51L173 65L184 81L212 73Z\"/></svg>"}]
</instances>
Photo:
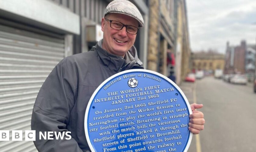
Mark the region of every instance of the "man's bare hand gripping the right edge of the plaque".
<instances>
[{"instance_id":1,"label":"man's bare hand gripping the right edge of the plaque","mask_svg":"<svg viewBox=\"0 0 256 152\"><path fill-rule=\"evenodd\" d=\"M204 129L205 120L203 112L197 111L196 109L202 108L203 105L193 103L190 105L190 107L192 110L192 114L189 115L190 123L188 123L188 129L190 130L191 133L198 134L200 133L200 130Z\"/></svg>"}]
</instances>

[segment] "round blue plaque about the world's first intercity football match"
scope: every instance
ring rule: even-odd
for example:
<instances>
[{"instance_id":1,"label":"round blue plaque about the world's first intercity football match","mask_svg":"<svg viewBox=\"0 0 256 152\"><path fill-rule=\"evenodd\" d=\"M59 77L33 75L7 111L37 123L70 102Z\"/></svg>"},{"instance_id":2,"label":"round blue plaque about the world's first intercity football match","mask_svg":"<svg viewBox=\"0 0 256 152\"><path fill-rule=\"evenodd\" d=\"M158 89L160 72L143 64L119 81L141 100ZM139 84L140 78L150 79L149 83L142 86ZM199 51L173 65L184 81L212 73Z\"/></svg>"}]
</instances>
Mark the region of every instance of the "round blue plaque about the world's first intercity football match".
<instances>
[{"instance_id":1,"label":"round blue plaque about the world's first intercity football match","mask_svg":"<svg viewBox=\"0 0 256 152\"><path fill-rule=\"evenodd\" d=\"M105 80L85 112L87 142L96 152L187 151L189 102L169 78L127 70Z\"/></svg>"}]
</instances>

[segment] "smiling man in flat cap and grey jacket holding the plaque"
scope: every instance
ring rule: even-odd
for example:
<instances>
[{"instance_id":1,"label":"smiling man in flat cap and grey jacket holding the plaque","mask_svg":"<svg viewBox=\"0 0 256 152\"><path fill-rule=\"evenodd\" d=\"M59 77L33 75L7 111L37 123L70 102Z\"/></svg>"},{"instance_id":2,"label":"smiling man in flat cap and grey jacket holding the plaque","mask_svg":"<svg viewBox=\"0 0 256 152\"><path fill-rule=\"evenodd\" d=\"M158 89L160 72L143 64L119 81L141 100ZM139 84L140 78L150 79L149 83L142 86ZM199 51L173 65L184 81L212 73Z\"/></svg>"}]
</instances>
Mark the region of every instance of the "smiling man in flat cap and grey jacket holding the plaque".
<instances>
[{"instance_id":1,"label":"smiling man in flat cap and grey jacket holding the plaque","mask_svg":"<svg viewBox=\"0 0 256 152\"><path fill-rule=\"evenodd\" d=\"M103 40L93 51L64 58L45 80L34 105L31 129L38 151L90 151L84 132L84 114L95 89L120 71L142 69L133 47L139 27L144 24L138 9L126 0L114 0L101 20ZM203 129L203 114L191 105L190 131ZM66 140L39 140L39 131L71 132ZM69 137L67 137L69 138Z\"/></svg>"}]
</instances>

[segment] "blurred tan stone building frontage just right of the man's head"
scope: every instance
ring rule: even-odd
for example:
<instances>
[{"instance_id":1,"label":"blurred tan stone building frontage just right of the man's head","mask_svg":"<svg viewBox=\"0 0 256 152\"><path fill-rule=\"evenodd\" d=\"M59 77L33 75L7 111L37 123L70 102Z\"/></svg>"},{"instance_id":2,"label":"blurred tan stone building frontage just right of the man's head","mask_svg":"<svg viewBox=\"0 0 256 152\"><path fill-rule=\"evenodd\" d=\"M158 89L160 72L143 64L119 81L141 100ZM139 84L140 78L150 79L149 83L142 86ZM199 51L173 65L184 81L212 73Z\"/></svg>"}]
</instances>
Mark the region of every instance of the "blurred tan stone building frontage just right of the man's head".
<instances>
[{"instance_id":1,"label":"blurred tan stone building frontage just right of the man's head","mask_svg":"<svg viewBox=\"0 0 256 152\"><path fill-rule=\"evenodd\" d=\"M180 84L189 72L190 42L185 0L149 0L148 69ZM167 61L175 54L175 65Z\"/></svg>"}]
</instances>

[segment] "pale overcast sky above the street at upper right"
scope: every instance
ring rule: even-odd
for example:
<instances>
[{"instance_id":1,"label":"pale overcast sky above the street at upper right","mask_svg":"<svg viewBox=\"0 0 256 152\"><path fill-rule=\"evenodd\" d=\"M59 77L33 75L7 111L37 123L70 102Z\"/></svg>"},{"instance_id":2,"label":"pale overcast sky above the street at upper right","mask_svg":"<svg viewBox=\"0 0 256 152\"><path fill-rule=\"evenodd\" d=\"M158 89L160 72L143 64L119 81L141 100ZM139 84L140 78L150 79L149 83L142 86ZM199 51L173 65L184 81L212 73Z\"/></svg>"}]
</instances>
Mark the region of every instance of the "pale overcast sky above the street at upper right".
<instances>
[{"instance_id":1,"label":"pale overcast sky above the street at upper right","mask_svg":"<svg viewBox=\"0 0 256 152\"><path fill-rule=\"evenodd\" d=\"M192 51L256 44L256 0L186 0Z\"/></svg>"}]
</instances>

